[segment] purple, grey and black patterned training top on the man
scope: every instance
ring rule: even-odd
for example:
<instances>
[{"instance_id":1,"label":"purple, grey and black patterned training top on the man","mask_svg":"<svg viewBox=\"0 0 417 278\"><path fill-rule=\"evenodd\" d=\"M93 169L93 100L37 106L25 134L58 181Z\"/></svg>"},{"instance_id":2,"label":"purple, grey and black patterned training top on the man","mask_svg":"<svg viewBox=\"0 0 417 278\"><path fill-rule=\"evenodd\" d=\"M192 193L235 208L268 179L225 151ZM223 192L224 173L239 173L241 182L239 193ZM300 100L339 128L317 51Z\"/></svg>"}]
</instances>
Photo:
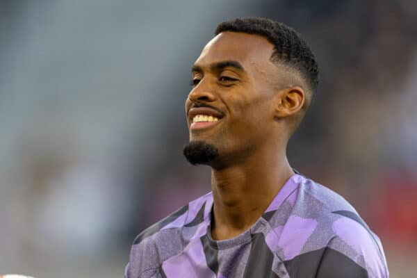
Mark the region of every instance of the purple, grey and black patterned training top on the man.
<instances>
[{"instance_id":1,"label":"purple, grey and black patterned training top on the man","mask_svg":"<svg viewBox=\"0 0 417 278\"><path fill-rule=\"evenodd\" d=\"M343 197L293 174L250 229L213 240L208 193L142 231L126 278L389 277L379 238Z\"/></svg>"}]
</instances>

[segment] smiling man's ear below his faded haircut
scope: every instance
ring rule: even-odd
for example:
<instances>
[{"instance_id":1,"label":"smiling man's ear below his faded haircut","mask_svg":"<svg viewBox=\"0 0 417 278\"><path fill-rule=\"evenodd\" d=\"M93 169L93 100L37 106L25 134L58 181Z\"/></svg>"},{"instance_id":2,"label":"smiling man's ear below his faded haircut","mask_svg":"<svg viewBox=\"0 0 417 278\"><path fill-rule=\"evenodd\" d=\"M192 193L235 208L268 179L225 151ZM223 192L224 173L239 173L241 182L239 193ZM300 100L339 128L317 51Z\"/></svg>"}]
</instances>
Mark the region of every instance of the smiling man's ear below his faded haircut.
<instances>
[{"instance_id":1,"label":"smiling man's ear below his faded haircut","mask_svg":"<svg viewBox=\"0 0 417 278\"><path fill-rule=\"evenodd\" d=\"M306 95L299 86L280 90L275 99L275 117L288 117L302 109Z\"/></svg>"}]
</instances>

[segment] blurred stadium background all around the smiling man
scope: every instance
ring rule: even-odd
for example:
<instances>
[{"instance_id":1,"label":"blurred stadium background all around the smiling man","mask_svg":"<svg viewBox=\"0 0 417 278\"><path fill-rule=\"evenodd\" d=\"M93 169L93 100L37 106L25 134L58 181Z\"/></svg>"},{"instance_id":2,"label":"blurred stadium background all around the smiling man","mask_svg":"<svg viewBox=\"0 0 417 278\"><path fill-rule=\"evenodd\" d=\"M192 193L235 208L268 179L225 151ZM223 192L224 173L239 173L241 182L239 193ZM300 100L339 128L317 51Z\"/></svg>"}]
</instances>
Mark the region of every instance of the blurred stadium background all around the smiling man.
<instances>
[{"instance_id":1,"label":"blurred stadium background all around the smiling man","mask_svg":"<svg viewBox=\"0 0 417 278\"><path fill-rule=\"evenodd\" d=\"M320 87L288 157L417 272L417 1L0 1L0 273L122 277L133 238L210 190L182 156L215 26L300 31Z\"/></svg>"}]
</instances>

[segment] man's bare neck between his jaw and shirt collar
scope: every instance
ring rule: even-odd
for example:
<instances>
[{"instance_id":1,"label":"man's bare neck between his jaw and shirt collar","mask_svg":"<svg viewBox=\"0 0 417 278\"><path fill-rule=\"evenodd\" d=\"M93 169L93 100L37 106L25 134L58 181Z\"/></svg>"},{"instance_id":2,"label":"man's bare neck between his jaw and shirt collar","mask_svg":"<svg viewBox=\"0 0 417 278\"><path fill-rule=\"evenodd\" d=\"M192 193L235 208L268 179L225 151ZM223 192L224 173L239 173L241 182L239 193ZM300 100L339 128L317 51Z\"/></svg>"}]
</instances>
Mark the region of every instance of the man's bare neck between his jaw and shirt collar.
<instances>
[{"instance_id":1,"label":"man's bare neck between his jaw and shirt collar","mask_svg":"<svg viewBox=\"0 0 417 278\"><path fill-rule=\"evenodd\" d=\"M212 237L223 240L249 229L292 174L285 149L273 154L265 150L242 163L213 169Z\"/></svg>"}]
</instances>

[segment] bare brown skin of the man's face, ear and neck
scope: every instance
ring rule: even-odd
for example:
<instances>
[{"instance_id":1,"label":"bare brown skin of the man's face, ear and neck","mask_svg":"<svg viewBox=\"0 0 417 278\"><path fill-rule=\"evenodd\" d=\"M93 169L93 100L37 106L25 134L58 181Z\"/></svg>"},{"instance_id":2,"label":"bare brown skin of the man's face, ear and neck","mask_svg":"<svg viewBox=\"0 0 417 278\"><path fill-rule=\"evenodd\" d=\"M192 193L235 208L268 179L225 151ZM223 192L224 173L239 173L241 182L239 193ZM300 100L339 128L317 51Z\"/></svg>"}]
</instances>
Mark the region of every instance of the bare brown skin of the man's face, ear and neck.
<instances>
[{"instance_id":1,"label":"bare brown skin of the man's face, ear and neck","mask_svg":"<svg viewBox=\"0 0 417 278\"><path fill-rule=\"evenodd\" d=\"M190 108L222 113L216 124L190 129L190 141L215 146L211 236L238 236L258 220L294 174L286 146L306 101L296 73L270 60L273 45L260 35L223 32L206 44L193 67Z\"/></svg>"}]
</instances>

